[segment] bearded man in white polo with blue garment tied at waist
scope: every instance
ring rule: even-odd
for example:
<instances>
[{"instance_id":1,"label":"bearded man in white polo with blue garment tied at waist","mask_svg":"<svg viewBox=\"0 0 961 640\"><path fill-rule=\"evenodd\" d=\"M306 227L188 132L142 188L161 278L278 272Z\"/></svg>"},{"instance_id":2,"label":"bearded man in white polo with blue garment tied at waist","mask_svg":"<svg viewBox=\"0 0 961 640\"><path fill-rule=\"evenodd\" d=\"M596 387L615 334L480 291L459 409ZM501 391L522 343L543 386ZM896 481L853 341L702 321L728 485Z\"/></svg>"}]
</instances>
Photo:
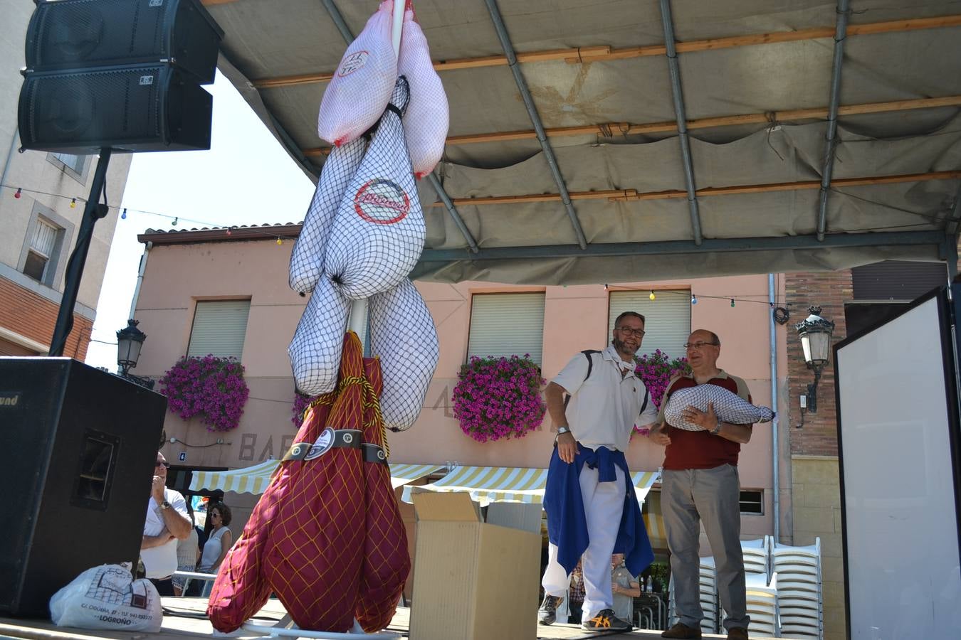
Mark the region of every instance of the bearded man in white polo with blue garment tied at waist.
<instances>
[{"instance_id":1,"label":"bearded man in white polo with blue garment tied at waist","mask_svg":"<svg viewBox=\"0 0 961 640\"><path fill-rule=\"evenodd\" d=\"M554 623L580 559L581 627L631 629L614 615L610 558L624 554L634 576L653 561L624 456L634 426L653 424L657 415L634 372L634 354L643 340L644 316L621 314L611 344L604 351L576 354L545 390L557 437L544 494L550 545L537 615L542 625Z\"/></svg>"}]
</instances>

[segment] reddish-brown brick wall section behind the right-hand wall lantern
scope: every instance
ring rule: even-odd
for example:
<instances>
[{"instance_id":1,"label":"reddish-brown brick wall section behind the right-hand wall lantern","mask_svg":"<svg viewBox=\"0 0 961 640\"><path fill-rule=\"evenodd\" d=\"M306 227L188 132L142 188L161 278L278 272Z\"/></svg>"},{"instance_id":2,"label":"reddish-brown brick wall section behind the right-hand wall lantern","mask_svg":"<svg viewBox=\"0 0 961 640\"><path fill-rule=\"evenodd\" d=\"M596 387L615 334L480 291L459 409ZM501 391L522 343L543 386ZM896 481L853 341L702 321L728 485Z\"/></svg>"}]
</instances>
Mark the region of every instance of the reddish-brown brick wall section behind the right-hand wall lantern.
<instances>
[{"instance_id":1,"label":"reddish-brown brick wall section behind the right-hand wall lantern","mask_svg":"<svg viewBox=\"0 0 961 640\"><path fill-rule=\"evenodd\" d=\"M825 273L785 273L784 290L791 320L787 335L789 417L792 427L801 422L799 401L814 373L804 364L801 341L794 324L807 318L808 306L820 306L821 316L834 322L833 341L847 336L844 304L853 298L850 270ZM818 384L818 413L807 412L804 426L791 429L791 453L811 456L836 456L837 414L834 405L833 362L825 367Z\"/></svg>"}]
</instances>

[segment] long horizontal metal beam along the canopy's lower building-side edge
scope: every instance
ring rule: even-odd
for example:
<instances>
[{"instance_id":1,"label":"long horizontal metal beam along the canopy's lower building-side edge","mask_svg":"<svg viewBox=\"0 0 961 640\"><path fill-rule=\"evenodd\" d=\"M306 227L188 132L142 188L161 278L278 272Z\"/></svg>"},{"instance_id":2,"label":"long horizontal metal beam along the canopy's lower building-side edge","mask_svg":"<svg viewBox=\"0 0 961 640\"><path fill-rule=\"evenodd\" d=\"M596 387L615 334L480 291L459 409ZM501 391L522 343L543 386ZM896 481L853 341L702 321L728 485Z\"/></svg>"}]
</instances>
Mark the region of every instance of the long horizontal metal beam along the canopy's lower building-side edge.
<instances>
[{"instance_id":1,"label":"long horizontal metal beam along the canopy's lower building-side edge","mask_svg":"<svg viewBox=\"0 0 961 640\"><path fill-rule=\"evenodd\" d=\"M940 248L944 231L890 231L884 233L831 233L824 242L813 235L770 236L761 238L705 238L700 246L690 240L664 242L591 243L586 250L577 245L545 245L540 247L500 247L480 249L471 254L464 249L424 249L421 263L455 262L458 260L509 260L538 258L569 258L588 256L677 255L716 251L779 251L790 249L826 249L831 247L906 247L930 245Z\"/></svg>"}]
</instances>

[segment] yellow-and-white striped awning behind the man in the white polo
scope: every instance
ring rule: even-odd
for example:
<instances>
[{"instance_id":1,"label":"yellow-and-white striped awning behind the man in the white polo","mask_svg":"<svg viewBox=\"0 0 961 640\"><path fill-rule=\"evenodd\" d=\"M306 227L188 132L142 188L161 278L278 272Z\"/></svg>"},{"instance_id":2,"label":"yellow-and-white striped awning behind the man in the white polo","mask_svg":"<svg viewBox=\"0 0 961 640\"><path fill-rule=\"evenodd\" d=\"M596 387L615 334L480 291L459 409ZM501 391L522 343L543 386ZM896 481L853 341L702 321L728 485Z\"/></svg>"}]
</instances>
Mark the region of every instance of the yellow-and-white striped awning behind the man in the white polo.
<instances>
[{"instance_id":1,"label":"yellow-and-white striped awning behind the man in the white polo","mask_svg":"<svg viewBox=\"0 0 961 640\"><path fill-rule=\"evenodd\" d=\"M638 471L631 474L637 501L643 503L651 486L660 478L656 471ZM547 469L531 469L510 466L457 466L446 476L430 485L416 487L418 491L466 491L471 499L486 506L492 502L525 502L539 504L544 501L547 485ZM411 502L413 487L404 487L404 502Z\"/></svg>"}]
</instances>

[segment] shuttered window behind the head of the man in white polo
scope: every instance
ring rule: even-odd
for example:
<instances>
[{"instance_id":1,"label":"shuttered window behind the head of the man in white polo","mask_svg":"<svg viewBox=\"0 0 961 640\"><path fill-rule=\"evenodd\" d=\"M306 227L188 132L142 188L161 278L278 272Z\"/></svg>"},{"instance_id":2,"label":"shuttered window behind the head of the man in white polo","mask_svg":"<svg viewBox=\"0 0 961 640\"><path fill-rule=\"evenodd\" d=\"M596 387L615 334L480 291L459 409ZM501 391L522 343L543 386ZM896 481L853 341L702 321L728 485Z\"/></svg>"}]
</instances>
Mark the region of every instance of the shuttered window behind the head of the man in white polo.
<instances>
[{"instance_id":1,"label":"shuttered window behind the head of the man in white polo","mask_svg":"<svg viewBox=\"0 0 961 640\"><path fill-rule=\"evenodd\" d=\"M609 298L607 335L614 329L614 320L625 311L635 311L645 318L644 342L638 355L660 349L672 358L684 355L684 343L691 334L691 292L687 289L670 291L613 291ZM608 338L609 340L609 338Z\"/></svg>"}]
</instances>

